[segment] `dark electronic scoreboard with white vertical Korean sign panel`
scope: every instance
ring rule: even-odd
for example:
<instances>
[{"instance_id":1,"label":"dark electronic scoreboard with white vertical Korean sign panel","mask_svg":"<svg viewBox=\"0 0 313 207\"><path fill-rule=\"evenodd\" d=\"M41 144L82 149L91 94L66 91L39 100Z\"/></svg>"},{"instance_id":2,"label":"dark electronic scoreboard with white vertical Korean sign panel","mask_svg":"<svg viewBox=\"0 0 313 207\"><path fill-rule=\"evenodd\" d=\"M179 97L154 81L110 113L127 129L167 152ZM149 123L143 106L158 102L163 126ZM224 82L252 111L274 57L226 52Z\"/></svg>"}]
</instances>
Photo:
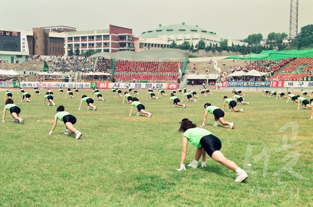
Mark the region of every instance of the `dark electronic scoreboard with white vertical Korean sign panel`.
<instances>
[{"instance_id":1,"label":"dark electronic scoreboard with white vertical Korean sign panel","mask_svg":"<svg viewBox=\"0 0 313 207\"><path fill-rule=\"evenodd\" d=\"M0 30L0 51L26 52L25 33Z\"/></svg>"}]
</instances>

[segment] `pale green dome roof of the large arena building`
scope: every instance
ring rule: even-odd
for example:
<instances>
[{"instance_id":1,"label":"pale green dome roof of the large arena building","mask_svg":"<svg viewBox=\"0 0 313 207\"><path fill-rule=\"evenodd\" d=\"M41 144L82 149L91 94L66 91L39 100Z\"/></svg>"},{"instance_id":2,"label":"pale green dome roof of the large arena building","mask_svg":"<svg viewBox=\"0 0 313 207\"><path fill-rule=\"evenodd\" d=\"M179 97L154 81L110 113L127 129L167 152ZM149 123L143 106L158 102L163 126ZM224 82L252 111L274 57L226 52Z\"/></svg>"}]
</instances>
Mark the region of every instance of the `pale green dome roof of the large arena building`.
<instances>
[{"instance_id":1,"label":"pale green dome roof of the large arena building","mask_svg":"<svg viewBox=\"0 0 313 207\"><path fill-rule=\"evenodd\" d=\"M159 24L159 26L161 25L160 27L157 27L151 31L142 32L140 37L141 38L157 38L158 35L190 34L190 33L199 33L199 32L216 35L215 32L210 32L203 28L196 27L198 25L191 26L191 25L186 25L184 23L185 22L183 22L183 24L172 24L172 25L167 25L167 26L162 26L161 24Z\"/></svg>"}]
</instances>

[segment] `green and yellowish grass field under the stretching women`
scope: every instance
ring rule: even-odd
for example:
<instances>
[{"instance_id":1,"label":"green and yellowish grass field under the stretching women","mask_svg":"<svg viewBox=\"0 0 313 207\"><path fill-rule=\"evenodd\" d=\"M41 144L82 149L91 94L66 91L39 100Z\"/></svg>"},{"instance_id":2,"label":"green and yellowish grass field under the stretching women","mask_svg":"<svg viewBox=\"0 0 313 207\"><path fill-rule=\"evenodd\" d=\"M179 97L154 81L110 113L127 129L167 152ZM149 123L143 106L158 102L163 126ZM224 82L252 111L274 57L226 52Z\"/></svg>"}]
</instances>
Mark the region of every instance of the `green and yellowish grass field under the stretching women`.
<instances>
[{"instance_id":1,"label":"green and yellowish grass field under the stretching women","mask_svg":"<svg viewBox=\"0 0 313 207\"><path fill-rule=\"evenodd\" d=\"M21 103L18 91L11 90L25 121L12 123L7 112L0 125L0 206L313 205L313 120L308 120L310 110L297 110L296 103L245 92L251 105L243 106L244 113L228 112L228 106L224 110L224 119L236 123L234 130L220 123L213 127L213 115L208 116L205 129L219 137L224 155L249 175L236 183L235 172L210 157L206 168L187 167L196 150L191 144L187 171L175 170L182 150L179 122L188 118L200 126L203 105L222 108L223 96L231 92L213 91L197 103L184 101L183 109L167 108L169 97L147 100L146 91L138 91L136 97L153 114L147 118L135 116L136 110L129 117L131 105L110 91L100 90L105 101L95 101L97 111L86 110L85 103L77 111L81 96L90 96L90 90L80 91L75 99L53 91L54 107L42 106L44 93ZM61 121L48 135L58 105L77 118L74 126L83 133L81 140L63 135ZM287 123L291 127L280 133Z\"/></svg>"}]
</instances>

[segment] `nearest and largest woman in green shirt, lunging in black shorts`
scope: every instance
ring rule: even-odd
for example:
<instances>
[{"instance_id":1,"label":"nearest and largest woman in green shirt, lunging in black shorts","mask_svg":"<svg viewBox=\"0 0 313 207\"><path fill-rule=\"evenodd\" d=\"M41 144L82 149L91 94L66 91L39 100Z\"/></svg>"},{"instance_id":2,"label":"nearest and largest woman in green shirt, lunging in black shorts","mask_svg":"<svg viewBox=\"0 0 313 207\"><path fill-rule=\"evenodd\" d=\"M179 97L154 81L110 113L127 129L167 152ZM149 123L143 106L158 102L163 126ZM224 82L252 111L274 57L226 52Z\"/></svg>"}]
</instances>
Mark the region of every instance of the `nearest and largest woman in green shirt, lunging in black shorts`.
<instances>
[{"instance_id":1,"label":"nearest and largest woman in green shirt, lunging in black shorts","mask_svg":"<svg viewBox=\"0 0 313 207\"><path fill-rule=\"evenodd\" d=\"M228 160L223 153L220 151L222 148L221 140L218 137L212 135L212 132L207 131L202 128L198 128L197 125L193 124L192 121L188 119L183 119L181 126L179 127L180 132L183 132L182 135L182 155L181 155L181 164L178 171L186 170L185 168L185 159L187 155L187 144L190 142L192 145L197 147L195 159L188 165L192 168L198 167L198 160L202 155L202 165L206 166L206 153L216 162L224 165L230 170L235 171L238 176L235 179L235 182L243 182L248 178L247 173L238 167L236 163L231 160Z\"/></svg>"}]
</instances>

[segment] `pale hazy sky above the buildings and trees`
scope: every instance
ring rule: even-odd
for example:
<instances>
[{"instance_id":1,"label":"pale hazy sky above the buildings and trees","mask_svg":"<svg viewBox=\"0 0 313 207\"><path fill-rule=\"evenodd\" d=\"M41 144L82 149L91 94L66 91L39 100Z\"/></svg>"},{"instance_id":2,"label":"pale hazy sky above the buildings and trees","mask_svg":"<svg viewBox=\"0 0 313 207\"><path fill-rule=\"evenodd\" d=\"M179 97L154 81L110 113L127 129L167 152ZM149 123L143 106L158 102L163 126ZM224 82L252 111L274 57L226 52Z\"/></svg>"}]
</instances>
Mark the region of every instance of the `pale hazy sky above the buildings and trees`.
<instances>
[{"instance_id":1,"label":"pale hazy sky above the buildings and trees","mask_svg":"<svg viewBox=\"0 0 313 207\"><path fill-rule=\"evenodd\" d=\"M199 25L226 39L270 32L289 35L290 0L1 0L1 29L68 26L82 30L133 29L139 36L159 24ZM313 24L312 0L300 0L298 33Z\"/></svg>"}]
</instances>

